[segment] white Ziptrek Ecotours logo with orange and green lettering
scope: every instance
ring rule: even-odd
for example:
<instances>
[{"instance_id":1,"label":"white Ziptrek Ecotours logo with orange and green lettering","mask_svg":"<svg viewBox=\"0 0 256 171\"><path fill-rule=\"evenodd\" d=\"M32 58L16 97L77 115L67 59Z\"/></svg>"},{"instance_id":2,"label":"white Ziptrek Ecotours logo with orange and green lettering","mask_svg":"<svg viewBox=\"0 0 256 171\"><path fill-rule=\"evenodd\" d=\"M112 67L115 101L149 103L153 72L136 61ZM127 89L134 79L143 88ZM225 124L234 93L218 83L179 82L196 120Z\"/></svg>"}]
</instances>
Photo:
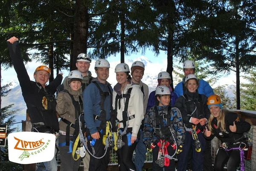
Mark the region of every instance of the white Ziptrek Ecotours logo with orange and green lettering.
<instances>
[{"instance_id":1,"label":"white Ziptrek Ecotours logo with orange and green lettering","mask_svg":"<svg viewBox=\"0 0 256 171\"><path fill-rule=\"evenodd\" d=\"M11 162L32 164L48 162L55 154L55 135L40 132L15 132L8 135Z\"/></svg>"}]
</instances>

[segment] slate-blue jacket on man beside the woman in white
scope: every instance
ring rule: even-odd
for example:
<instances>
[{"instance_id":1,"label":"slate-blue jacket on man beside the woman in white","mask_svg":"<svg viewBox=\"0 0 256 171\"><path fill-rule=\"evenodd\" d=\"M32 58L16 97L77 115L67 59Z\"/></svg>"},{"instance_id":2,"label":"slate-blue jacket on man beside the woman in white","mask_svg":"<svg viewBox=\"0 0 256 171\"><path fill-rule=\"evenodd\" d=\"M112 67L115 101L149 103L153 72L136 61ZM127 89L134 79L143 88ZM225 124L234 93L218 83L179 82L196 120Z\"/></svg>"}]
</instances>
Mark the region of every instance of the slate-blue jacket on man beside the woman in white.
<instances>
[{"instance_id":1,"label":"slate-blue jacket on man beside the woman in white","mask_svg":"<svg viewBox=\"0 0 256 171\"><path fill-rule=\"evenodd\" d=\"M96 81L103 92L109 91L108 87L111 89L111 95L113 88L107 82L106 84L100 83L97 79L93 79L92 82ZM111 109L111 95L106 97L104 103L104 110L106 111L106 120L110 120L110 109ZM101 121L95 120L95 115L100 116L100 101L101 95L99 89L94 83L90 83L83 92L84 100L84 121L86 127L90 130L90 134L94 134L98 131L97 127L100 126Z\"/></svg>"}]
</instances>

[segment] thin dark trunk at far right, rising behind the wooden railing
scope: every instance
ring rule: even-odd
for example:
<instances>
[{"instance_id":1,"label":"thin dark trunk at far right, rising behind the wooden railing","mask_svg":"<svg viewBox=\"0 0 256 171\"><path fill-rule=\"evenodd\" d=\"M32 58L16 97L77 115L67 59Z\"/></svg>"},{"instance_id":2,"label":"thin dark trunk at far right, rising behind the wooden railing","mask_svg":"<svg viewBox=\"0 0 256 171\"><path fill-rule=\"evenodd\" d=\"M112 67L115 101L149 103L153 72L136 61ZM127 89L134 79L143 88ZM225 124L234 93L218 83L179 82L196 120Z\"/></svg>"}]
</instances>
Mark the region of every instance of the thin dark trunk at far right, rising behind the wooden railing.
<instances>
[{"instance_id":1,"label":"thin dark trunk at far right, rising behind the wooden railing","mask_svg":"<svg viewBox=\"0 0 256 171\"><path fill-rule=\"evenodd\" d=\"M236 36L236 109L240 109L239 38Z\"/></svg>"}]
</instances>

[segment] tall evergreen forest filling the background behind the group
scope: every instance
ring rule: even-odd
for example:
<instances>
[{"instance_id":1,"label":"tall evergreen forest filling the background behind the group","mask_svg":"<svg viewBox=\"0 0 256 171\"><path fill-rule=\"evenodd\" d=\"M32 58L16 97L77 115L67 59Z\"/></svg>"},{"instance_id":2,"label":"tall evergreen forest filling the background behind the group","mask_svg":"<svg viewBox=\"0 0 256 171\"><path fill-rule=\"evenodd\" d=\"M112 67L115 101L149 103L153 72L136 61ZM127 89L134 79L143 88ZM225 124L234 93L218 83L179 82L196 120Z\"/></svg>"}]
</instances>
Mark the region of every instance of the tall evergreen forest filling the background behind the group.
<instances>
[{"instance_id":1,"label":"tall evergreen forest filling the background behind the group","mask_svg":"<svg viewBox=\"0 0 256 171\"><path fill-rule=\"evenodd\" d=\"M150 51L166 56L162 65L172 82L174 75L183 77L175 64L188 59L211 85L235 72L236 96L227 97L224 85L215 93L227 108L256 110L254 0L2 0L1 72L12 67L6 46L12 36L20 39L24 62L36 60L52 69L50 81L60 70L76 69L82 52L126 62L131 54ZM241 73L247 83L240 83ZM0 82L0 124L15 123L17 111L1 106L8 85Z\"/></svg>"}]
</instances>

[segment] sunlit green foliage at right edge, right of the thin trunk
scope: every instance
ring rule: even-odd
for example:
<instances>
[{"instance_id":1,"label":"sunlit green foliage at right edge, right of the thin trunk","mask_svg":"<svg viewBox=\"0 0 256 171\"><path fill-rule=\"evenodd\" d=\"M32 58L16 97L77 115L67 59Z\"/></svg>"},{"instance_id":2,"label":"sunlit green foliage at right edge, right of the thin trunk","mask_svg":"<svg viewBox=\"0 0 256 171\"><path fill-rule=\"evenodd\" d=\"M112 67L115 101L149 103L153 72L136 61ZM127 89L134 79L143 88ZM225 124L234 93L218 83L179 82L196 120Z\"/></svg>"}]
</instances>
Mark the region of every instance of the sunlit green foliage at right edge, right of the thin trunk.
<instances>
[{"instance_id":1,"label":"sunlit green foliage at right edge, right of the thin trunk","mask_svg":"<svg viewBox=\"0 0 256 171\"><path fill-rule=\"evenodd\" d=\"M241 109L256 111L256 68L244 78L249 83L241 84Z\"/></svg>"}]
</instances>

